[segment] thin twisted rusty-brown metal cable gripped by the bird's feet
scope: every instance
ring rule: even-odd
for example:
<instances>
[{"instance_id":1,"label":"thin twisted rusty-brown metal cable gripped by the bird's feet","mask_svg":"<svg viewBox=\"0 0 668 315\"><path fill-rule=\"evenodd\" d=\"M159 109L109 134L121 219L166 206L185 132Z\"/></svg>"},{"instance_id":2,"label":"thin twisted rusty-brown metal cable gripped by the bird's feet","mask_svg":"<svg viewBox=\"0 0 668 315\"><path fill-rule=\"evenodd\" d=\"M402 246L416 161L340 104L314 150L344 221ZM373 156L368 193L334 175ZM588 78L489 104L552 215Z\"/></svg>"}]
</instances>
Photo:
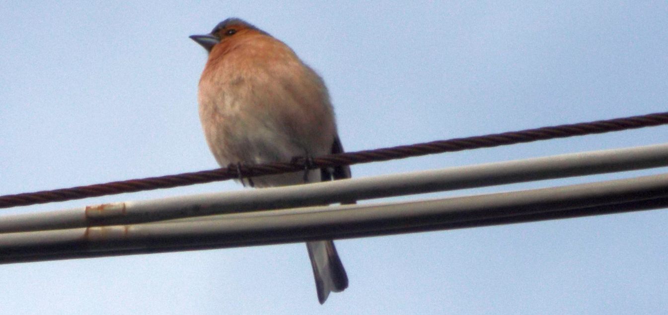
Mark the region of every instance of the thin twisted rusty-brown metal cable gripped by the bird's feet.
<instances>
[{"instance_id":1,"label":"thin twisted rusty-brown metal cable gripped by the bird's feet","mask_svg":"<svg viewBox=\"0 0 668 315\"><path fill-rule=\"evenodd\" d=\"M498 147L501 145L593 135L597 133L608 133L611 131L622 131L665 124L668 124L668 112L609 119L605 121L593 121L589 123L526 129L523 131L511 131L508 133L497 133L476 137L432 141L429 143L402 145L399 147L341 153L337 155L325 155L323 157L313 158L313 160L297 158L292 162L274 162L257 165L230 165L226 168L202 170L200 172L187 172L167 176L122 180L88 186L25 192L22 194L8 194L0 196L0 208L75 200L158 188L172 188L190 184L203 184L206 182L214 182L216 180L239 178L240 176L248 177L279 174L283 172L296 172L305 170L305 168L324 168L339 165L378 162L395 158L419 157L435 153Z\"/></svg>"}]
</instances>

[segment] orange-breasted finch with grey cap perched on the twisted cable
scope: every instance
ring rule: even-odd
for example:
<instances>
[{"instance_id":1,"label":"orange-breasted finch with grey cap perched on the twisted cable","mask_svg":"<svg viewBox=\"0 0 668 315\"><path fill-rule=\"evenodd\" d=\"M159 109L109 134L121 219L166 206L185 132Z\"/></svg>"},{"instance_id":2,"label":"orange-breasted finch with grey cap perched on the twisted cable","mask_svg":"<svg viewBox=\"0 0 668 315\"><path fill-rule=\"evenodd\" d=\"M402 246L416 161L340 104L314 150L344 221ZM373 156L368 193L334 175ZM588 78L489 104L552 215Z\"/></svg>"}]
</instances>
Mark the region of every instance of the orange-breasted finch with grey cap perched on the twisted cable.
<instances>
[{"instance_id":1,"label":"orange-breasted finch with grey cap perched on the twisted cable","mask_svg":"<svg viewBox=\"0 0 668 315\"><path fill-rule=\"evenodd\" d=\"M236 18L190 38L208 51L199 113L220 166L343 152L323 79L285 43ZM349 177L349 166L339 166L240 180L270 187ZM331 240L307 242L307 248L322 304L329 292L347 288L348 278Z\"/></svg>"}]
</instances>

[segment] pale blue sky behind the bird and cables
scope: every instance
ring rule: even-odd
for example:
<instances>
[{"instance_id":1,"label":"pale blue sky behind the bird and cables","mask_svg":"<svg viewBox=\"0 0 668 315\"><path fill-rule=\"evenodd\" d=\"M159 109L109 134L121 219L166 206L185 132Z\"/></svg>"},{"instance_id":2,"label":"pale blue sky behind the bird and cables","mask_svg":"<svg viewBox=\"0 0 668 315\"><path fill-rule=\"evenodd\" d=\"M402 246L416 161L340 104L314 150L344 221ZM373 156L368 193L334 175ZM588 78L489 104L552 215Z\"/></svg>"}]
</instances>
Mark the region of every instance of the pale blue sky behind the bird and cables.
<instances>
[{"instance_id":1,"label":"pale blue sky behind the bird and cables","mask_svg":"<svg viewBox=\"0 0 668 315\"><path fill-rule=\"evenodd\" d=\"M0 194L215 168L205 51L241 17L325 79L345 149L668 110L665 1L0 4ZM668 128L353 166L353 176L668 141ZM590 182L666 169L465 190ZM218 182L2 210L240 189ZM418 198L418 197L410 197ZM409 210L409 209L407 209ZM665 210L337 242L319 305L303 244L0 265L1 314L657 314Z\"/></svg>"}]
</instances>

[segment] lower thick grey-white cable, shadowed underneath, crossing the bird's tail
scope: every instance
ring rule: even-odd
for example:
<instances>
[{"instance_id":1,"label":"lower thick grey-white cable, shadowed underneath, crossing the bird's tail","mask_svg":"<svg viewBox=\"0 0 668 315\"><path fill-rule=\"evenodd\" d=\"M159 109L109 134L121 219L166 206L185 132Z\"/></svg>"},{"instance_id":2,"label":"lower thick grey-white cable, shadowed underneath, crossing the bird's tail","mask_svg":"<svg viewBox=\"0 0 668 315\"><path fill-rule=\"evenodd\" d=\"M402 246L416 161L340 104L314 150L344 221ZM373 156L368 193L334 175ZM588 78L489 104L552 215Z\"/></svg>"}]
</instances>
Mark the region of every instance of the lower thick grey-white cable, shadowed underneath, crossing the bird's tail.
<instances>
[{"instance_id":1,"label":"lower thick grey-white cable, shadowed underneath, crossing the bird's tail","mask_svg":"<svg viewBox=\"0 0 668 315\"><path fill-rule=\"evenodd\" d=\"M226 214L211 220L0 234L0 262L349 238L668 205L668 174L389 204ZM551 216L551 217L550 217Z\"/></svg>"}]
</instances>

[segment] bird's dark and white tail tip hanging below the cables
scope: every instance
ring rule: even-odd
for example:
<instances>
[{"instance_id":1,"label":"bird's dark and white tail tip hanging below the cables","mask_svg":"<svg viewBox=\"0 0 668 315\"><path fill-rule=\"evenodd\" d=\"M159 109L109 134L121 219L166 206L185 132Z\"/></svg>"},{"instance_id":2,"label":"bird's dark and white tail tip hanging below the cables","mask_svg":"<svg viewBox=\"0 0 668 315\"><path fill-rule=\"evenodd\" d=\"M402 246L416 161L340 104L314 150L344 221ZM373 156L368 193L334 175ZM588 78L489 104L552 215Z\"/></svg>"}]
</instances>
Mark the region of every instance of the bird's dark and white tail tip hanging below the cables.
<instances>
[{"instance_id":1,"label":"bird's dark and white tail tip hanging below the cables","mask_svg":"<svg viewBox=\"0 0 668 315\"><path fill-rule=\"evenodd\" d=\"M348 287L348 276L345 274L334 242L331 240L307 242L306 247L309 249L309 258L313 266L318 300L323 304L329 292L341 292Z\"/></svg>"}]
</instances>

